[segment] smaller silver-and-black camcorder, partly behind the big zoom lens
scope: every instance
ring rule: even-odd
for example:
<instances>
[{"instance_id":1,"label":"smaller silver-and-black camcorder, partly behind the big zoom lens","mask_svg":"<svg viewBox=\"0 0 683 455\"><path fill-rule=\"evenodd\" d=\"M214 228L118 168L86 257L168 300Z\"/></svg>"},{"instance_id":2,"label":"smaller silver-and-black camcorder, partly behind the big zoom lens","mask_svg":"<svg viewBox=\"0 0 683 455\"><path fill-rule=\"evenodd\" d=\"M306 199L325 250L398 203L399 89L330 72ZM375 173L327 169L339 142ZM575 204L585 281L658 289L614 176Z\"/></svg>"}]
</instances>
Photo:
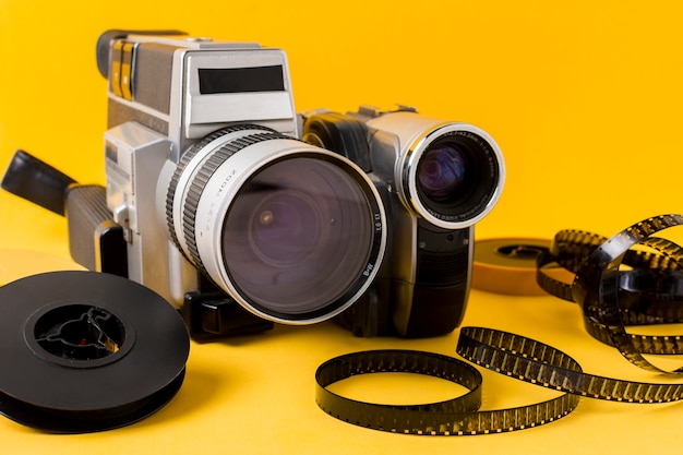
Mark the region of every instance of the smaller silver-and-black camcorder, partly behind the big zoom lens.
<instances>
[{"instance_id":1,"label":"smaller silver-and-black camcorder, partly behind the big zoom lens","mask_svg":"<svg viewBox=\"0 0 683 455\"><path fill-rule=\"evenodd\" d=\"M415 109L361 107L303 115L303 140L340 153L370 177L390 219L388 248L369 291L337 316L358 336L439 336L464 316L474 225L498 202L501 151L483 130Z\"/></svg>"}]
</instances>

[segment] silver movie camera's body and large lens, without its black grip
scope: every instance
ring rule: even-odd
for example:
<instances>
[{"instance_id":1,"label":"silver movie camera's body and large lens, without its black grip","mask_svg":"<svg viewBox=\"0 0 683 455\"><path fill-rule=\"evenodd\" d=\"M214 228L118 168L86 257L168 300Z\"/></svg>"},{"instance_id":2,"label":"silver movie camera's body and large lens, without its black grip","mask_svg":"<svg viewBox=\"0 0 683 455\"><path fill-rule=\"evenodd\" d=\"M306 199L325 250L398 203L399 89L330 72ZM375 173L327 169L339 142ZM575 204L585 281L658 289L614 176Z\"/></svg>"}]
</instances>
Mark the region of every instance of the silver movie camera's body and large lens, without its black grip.
<instances>
[{"instance_id":1,"label":"silver movie camera's body and large lens, without its black grip","mask_svg":"<svg viewBox=\"0 0 683 455\"><path fill-rule=\"evenodd\" d=\"M380 194L350 159L297 139L283 50L103 39L106 201L129 278L178 308L218 295L289 324L333 318L367 291L386 248ZM223 311L200 318L220 325Z\"/></svg>"}]
</instances>

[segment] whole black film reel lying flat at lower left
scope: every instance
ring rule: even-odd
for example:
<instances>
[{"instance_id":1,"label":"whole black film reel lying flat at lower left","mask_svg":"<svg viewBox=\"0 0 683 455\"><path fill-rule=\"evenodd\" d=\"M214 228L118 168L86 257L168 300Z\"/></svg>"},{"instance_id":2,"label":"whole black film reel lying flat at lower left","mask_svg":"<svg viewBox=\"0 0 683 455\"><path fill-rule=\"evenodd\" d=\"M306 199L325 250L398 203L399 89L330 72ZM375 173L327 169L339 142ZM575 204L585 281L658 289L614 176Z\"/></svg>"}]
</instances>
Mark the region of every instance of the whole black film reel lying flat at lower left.
<instances>
[{"instance_id":1,"label":"whole black film reel lying flat at lower left","mask_svg":"<svg viewBox=\"0 0 683 455\"><path fill-rule=\"evenodd\" d=\"M136 422L179 391L190 342L180 315L129 279L51 272L0 288L0 412L84 433Z\"/></svg>"}]
</instances>

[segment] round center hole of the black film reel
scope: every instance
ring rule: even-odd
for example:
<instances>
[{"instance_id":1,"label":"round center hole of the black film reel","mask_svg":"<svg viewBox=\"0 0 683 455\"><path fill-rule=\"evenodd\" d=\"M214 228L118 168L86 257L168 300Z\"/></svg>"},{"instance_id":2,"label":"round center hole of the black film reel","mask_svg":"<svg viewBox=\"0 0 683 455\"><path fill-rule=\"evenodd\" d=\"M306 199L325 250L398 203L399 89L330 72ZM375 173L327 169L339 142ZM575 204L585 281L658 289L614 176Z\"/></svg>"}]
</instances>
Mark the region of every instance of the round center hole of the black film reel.
<instances>
[{"instance_id":1,"label":"round center hole of the black film reel","mask_svg":"<svg viewBox=\"0 0 683 455\"><path fill-rule=\"evenodd\" d=\"M67 360L101 359L125 343L125 330L117 316L86 304L48 311L37 320L34 336L47 352Z\"/></svg>"}]
</instances>

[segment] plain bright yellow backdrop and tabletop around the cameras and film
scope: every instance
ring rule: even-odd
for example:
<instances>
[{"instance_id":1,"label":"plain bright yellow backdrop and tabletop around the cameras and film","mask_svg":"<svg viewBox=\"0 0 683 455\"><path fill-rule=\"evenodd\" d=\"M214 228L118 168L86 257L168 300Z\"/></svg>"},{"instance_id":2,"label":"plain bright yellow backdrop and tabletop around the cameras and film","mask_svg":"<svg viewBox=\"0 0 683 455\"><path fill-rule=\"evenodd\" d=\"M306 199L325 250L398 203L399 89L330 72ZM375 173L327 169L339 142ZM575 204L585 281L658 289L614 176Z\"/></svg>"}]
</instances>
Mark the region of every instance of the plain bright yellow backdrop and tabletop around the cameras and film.
<instances>
[{"instance_id":1,"label":"plain bright yellow backdrop and tabletop around the cameras and film","mask_svg":"<svg viewBox=\"0 0 683 455\"><path fill-rule=\"evenodd\" d=\"M107 28L172 27L284 48L299 110L402 103L487 130L503 151L507 181L500 203L479 224L479 238L544 238L562 228L611 235L642 218L682 211L682 17L678 1L1 0L0 169L22 147L79 181L103 182L106 82L95 67L95 40ZM62 218L5 192L0 214L0 250L68 259ZM550 297L474 291L465 323L541 339L592 373L654 380L591 340L577 308ZM680 448L681 405L585 399L574 414L542 428L448 439L356 428L323 414L313 400L313 373L331 357L382 347L454 355L456 339L457 333L358 339L322 324L193 344L179 395L149 419L111 432L56 436L2 418L2 450L75 455ZM548 396L493 373L484 381L488 408Z\"/></svg>"}]
</instances>

